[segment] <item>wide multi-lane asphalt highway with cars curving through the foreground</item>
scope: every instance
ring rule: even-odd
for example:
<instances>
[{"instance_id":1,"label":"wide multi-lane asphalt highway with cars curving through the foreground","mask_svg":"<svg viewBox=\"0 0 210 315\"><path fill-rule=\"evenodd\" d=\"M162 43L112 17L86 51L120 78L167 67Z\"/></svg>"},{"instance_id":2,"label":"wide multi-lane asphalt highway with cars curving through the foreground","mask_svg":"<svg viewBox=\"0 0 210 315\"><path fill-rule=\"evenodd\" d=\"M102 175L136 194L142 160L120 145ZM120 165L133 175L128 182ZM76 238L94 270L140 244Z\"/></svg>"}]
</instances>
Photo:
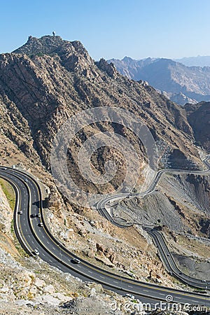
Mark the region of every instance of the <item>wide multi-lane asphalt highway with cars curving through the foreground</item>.
<instances>
[{"instance_id":1,"label":"wide multi-lane asphalt highway with cars curving through the foreground","mask_svg":"<svg viewBox=\"0 0 210 315\"><path fill-rule=\"evenodd\" d=\"M168 172L171 172L171 170L168 170ZM155 188L157 185L159 181L158 176L161 176L159 174L156 177L156 184L154 183L154 186L151 186L151 188ZM76 258L76 255L68 251L62 243L59 243L45 224L41 188L34 177L8 167L0 167L0 177L8 181L15 190L15 233L20 244L29 255L34 255L34 249L37 249L41 259L61 269L63 272L69 272L84 281L101 283L104 288L115 290L121 295L132 293L141 302L151 303L151 306L155 306L155 304L157 306L157 303L162 301L210 307L210 297L201 293L190 293L185 290L175 290L173 288L129 279L94 266L81 259L80 264L75 264L73 258ZM22 213L20 210L22 210ZM104 213L108 214L103 210L102 214L104 215ZM34 214L40 214L40 218L37 216L33 217ZM176 274L176 269L174 268L173 272ZM202 286L202 288L205 287L205 285Z\"/></svg>"}]
</instances>

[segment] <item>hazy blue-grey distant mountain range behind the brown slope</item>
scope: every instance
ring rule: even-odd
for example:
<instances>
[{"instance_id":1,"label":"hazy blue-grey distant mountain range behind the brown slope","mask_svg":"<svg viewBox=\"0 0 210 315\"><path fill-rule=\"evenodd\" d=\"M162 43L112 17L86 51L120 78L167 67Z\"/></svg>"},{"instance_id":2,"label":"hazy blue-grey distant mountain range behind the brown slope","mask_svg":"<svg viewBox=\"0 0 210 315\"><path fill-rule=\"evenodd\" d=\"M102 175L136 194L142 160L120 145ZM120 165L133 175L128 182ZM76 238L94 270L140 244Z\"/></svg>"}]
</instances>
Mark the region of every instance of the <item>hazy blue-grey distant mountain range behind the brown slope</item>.
<instances>
[{"instance_id":1,"label":"hazy blue-grey distant mountain range behind the brown slope","mask_svg":"<svg viewBox=\"0 0 210 315\"><path fill-rule=\"evenodd\" d=\"M195 58L199 60L199 57ZM190 62L191 58L185 59ZM210 66L186 66L164 58L135 60L125 57L122 60L109 59L108 62L115 64L118 71L128 78L148 81L178 104L210 101Z\"/></svg>"}]
</instances>

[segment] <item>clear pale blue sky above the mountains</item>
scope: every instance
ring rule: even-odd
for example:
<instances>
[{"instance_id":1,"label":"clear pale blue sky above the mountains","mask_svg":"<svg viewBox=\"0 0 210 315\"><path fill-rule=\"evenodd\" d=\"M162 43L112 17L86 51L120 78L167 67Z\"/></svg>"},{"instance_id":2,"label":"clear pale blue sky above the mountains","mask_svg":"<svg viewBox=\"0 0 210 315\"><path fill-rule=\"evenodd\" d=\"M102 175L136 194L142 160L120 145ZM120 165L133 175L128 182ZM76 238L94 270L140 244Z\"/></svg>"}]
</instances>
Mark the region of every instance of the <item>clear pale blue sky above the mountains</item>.
<instances>
[{"instance_id":1,"label":"clear pale blue sky above the mountains","mask_svg":"<svg viewBox=\"0 0 210 315\"><path fill-rule=\"evenodd\" d=\"M1 1L0 52L56 34L104 57L210 55L210 0Z\"/></svg>"}]
</instances>

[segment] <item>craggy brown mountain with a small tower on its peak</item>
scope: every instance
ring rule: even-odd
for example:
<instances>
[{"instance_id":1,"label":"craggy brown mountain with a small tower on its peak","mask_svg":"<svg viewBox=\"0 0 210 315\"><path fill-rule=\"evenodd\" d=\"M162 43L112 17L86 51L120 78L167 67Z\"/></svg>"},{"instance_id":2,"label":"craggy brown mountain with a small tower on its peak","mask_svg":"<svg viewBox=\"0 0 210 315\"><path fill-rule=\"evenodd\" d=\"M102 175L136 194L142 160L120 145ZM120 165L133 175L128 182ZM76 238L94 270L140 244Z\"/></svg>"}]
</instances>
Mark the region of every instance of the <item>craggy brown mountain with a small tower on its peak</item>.
<instances>
[{"instance_id":1,"label":"craggy brown mountain with a small tower on its peak","mask_svg":"<svg viewBox=\"0 0 210 315\"><path fill-rule=\"evenodd\" d=\"M169 144L172 152L198 162L192 145L193 130L185 111L158 94L147 83L139 84L120 76L113 64L99 62L88 55L78 41L59 36L29 37L25 45L11 54L0 55L1 133L35 163L50 166L50 148L59 127L78 111L96 106L117 106L135 113L150 128L155 141ZM73 140L69 150L69 172L88 192L110 192L122 183L126 167L116 148L101 148L92 158L97 172L104 172L104 161L115 160L115 179L103 188L84 181L77 167L78 148L99 131L118 132L137 150L146 165L144 146L120 125L100 123L86 128ZM187 137L185 136L187 134ZM2 136L2 137L3 137Z\"/></svg>"}]
</instances>

